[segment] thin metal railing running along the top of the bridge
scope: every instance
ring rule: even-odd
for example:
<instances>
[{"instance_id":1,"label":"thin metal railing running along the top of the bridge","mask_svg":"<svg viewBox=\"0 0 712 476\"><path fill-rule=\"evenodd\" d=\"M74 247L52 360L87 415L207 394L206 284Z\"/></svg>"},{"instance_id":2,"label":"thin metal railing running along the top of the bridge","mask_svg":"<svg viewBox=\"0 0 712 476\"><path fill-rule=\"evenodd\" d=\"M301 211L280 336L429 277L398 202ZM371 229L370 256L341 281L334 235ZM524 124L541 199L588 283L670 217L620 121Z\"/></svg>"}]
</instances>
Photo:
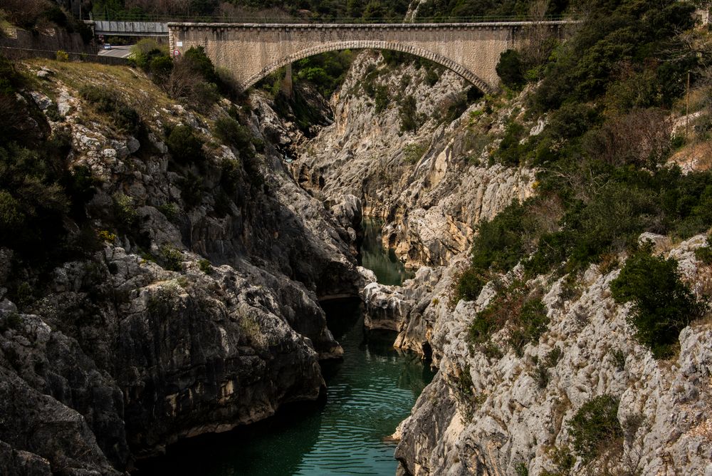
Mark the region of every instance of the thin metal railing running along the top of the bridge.
<instances>
[{"instance_id":1,"label":"thin metal railing running along the top of the bridge","mask_svg":"<svg viewBox=\"0 0 712 476\"><path fill-rule=\"evenodd\" d=\"M149 15L109 12L93 14L93 21L149 21L159 23L241 23L241 24L442 24L442 23L507 23L513 21L534 21L528 16L435 16L411 20L398 18L342 18L342 17L267 17L267 16L191 16L191 15ZM570 16L551 15L535 21L566 21Z\"/></svg>"}]
</instances>

